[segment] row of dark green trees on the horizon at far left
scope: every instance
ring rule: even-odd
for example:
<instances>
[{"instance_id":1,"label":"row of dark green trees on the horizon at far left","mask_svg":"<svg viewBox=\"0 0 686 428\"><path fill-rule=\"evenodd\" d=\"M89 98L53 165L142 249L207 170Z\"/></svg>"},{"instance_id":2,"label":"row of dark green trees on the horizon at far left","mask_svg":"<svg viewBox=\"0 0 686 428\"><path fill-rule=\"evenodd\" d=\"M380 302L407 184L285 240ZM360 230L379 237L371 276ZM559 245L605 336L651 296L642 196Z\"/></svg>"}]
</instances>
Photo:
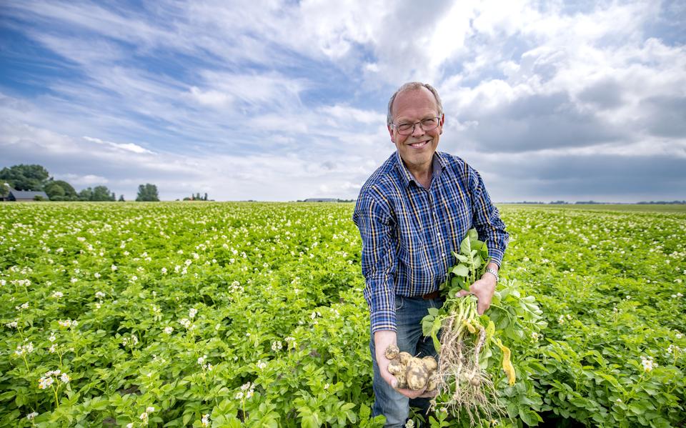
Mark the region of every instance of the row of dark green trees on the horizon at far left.
<instances>
[{"instance_id":1,"label":"row of dark green trees on the horizon at far left","mask_svg":"<svg viewBox=\"0 0 686 428\"><path fill-rule=\"evenodd\" d=\"M86 187L78 193L74 186L64 180L56 180L41 165L14 165L0 170L0 197L9 195L10 189L44 191L51 201L116 201L114 191L107 186ZM119 195L124 201L124 195ZM138 186L136 201L159 201L157 186L141 184Z\"/></svg>"}]
</instances>

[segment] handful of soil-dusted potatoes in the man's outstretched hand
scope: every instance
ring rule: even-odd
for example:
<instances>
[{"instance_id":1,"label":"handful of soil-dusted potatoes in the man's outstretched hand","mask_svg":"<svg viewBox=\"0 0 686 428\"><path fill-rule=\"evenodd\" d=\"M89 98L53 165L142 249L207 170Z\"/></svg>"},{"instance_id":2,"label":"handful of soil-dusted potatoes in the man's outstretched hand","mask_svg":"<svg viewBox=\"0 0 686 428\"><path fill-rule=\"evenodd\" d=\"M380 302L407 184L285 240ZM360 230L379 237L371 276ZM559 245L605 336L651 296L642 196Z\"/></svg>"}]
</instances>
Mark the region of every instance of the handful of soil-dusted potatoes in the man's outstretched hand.
<instances>
[{"instance_id":1,"label":"handful of soil-dusted potatoes in the man's outstretched hand","mask_svg":"<svg viewBox=\"0 0 686 428\"><path fill-rule=\"evenodd\" d=\"M398 379L398 389L412 389L417 391L427 387L427 391L434 391L437 387L436 369L438 364L434 357L412 357L407 352L400 352L395 345L386 348L386 358L391 360L388 371Z\"/></svg>"}]
</instances>

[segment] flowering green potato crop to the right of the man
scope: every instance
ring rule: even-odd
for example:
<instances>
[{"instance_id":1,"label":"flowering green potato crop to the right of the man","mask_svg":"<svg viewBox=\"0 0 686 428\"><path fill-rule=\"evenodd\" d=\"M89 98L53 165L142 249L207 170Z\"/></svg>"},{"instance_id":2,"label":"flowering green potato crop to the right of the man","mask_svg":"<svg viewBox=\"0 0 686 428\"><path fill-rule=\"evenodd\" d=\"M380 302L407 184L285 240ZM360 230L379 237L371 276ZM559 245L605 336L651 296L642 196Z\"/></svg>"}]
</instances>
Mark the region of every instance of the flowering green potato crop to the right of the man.
<instances>
[{"instance_id":1,"label":"flowering green potato crop to the right of the man","mask_svg":"<svg viewBox=\"0 0 686 428\"><path fill-rule=\"evenodd\" d=\"M514 264L548 327L525 354L551 423L686 421L686 215L504 210ZM678 314L678 315L677 315Z\"/></svg>"}]
</instances>

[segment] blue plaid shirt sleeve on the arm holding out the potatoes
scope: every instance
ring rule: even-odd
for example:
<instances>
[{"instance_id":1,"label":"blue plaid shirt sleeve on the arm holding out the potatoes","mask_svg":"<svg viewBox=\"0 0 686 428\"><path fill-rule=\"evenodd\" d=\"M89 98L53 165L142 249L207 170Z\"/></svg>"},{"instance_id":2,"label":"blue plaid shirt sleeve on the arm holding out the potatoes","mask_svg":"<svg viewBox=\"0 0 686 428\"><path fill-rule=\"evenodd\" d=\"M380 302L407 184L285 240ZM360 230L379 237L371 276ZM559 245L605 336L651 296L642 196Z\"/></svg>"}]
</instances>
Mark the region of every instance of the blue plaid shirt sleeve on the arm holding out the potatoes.
<instances>
[{"instance_id":1,"label":"blue plaid shirt sleeve on the arm holding out the potatoes","mask_svg":"<svg viewBox=\"0 0 686 428\"><path fill-rule=\"evenodd\" d=\"M369 305L372 334L379 330L397 331L394 274L397 267L393 244L394 222L387 206L362 192L355 204L353 221L362 237L362 274Z\"/></svg>"}]
</instances>

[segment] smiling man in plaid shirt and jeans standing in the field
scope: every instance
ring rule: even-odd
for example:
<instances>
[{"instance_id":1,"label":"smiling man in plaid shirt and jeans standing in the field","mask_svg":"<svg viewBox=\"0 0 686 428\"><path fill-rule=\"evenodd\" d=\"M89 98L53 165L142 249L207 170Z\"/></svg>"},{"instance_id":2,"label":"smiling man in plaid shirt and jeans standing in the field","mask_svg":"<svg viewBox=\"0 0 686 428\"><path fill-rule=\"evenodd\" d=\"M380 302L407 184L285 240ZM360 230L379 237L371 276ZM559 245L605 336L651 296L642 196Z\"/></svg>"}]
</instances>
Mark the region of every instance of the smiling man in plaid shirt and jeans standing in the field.
<instances>
[{"instance_id":1,"label":"smiling man in plaid shirt and jeans standing in the field","mask_svg":"<svg viewBox=\"0 0 686 428\"><path fill-rule=\"evenodd\" d=\"M438 287L469 229L476 227L492 257L488 272L459 294L474 294L479 314L491 304L507 245L481 176L459 157L436 151L444 120L432 86L411 82L393 94L387 126L397 151L362 186L353 214L372 321L373 412L386 417L386 427L402 427L410 405L426 411L430 395L395 389L384 351L397 344L412 355L436 354L422 336L421 320L427 309L443 304Z\"/></svg>"}]
</instances>

